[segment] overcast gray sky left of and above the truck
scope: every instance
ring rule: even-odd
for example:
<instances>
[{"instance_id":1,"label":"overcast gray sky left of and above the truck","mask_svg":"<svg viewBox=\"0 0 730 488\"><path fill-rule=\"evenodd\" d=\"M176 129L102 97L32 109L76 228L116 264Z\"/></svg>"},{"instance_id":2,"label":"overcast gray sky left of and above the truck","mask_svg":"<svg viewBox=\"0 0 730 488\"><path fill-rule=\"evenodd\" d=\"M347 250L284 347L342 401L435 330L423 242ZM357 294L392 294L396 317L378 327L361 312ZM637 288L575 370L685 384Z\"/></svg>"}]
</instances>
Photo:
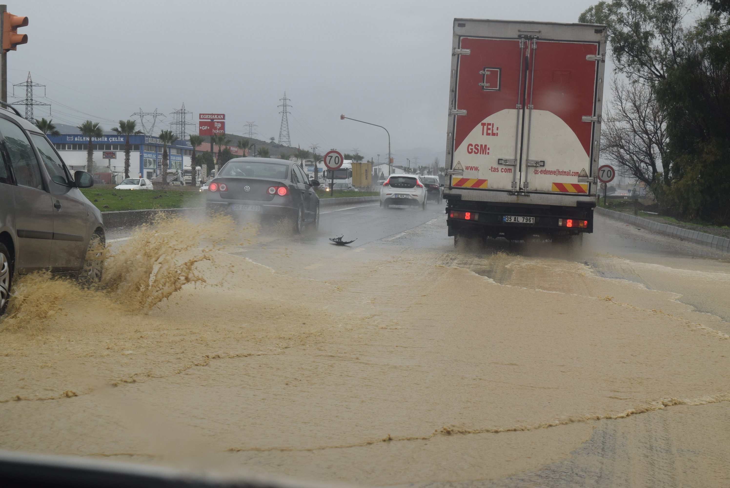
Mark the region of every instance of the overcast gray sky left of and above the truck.
<instances>
[{"instance_id":1,"label":"overcast gray sky left of and above the truck","mask_svg":"<svg viewBox=\"0 0 730 488\"><path fill-rule=\"evenodd\" d=\"M198 113L225 113L226 131L255 121L261 139L278 137L286 91L294 146L383 159L385 132L344 113L387 127L399 158L442 153L453 18L576 22L593 3L8 1L30 20L28 44L7 56L8 85L30 71L61 123L110 129L140 107L169 114L184 102L196 124Z\"/></svg>"}]
</instances>

